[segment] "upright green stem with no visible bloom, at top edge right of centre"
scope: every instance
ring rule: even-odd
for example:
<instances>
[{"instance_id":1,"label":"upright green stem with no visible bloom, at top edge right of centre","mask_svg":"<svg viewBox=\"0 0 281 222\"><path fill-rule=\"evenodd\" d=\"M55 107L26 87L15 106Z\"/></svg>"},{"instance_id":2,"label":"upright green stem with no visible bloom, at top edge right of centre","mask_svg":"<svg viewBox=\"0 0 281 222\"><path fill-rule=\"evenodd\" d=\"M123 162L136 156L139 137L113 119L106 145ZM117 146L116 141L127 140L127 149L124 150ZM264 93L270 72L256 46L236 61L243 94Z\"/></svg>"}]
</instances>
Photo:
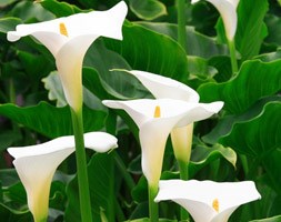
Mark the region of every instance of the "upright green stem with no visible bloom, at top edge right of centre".
<instances>
[{"instance_id":1,"label":"upright green stem with no visible bloom, at top edge right of centre","mask_svg":"<svg viewBox=\"0 0 281 222\"><path fill-rule=\"evenodd\" d=\"M185 30L185 0L177 1L178 8L178 42L187 52L187 30Z\"/></svg>"}]
</instances>

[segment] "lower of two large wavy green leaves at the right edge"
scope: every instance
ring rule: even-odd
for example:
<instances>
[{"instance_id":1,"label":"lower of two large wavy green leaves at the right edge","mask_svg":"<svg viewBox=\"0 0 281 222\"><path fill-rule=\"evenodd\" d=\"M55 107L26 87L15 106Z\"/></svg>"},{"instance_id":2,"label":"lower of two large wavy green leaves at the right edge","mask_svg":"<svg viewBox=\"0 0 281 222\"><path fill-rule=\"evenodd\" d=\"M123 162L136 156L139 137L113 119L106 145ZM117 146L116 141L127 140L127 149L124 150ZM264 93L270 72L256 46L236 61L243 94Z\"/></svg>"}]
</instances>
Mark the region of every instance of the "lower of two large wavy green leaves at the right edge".
<instances>
[{"instance_id":1,"label":"lower of two large wavy green leaves at the right edge","mask_svg":"<svg viewBox=\"0 0 281 222\"><path fill-rule=\"evenodd\" d=\"M239 153L262 158L281 147L281 102L269 102L257 118L237 123L219 142Z\"/></svg>"}]
</instances>

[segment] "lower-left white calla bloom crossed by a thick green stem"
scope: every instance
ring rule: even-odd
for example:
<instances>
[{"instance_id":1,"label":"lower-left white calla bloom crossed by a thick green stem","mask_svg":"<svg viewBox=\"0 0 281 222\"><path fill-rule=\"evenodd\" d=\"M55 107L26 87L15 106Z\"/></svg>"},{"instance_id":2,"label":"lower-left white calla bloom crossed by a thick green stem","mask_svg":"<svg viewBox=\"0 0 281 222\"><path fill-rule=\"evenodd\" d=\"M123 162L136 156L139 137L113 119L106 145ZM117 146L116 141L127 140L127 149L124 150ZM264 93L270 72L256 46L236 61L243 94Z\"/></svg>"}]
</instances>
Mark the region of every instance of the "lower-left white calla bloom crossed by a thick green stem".
<instances>
[{"instance_id":1,"label":"lower-left white calla bloom crossed by a thick green stem","mask_svg":"<svg viewBox=\"0 0 281 222\"><path fill-rule=\"evenodd\" d=\"M104 132L84 134L86 147L97 152L117 148L117 139ZM74 137L61 137L49 142L9 148L14 158L13 165L27 191L28 206L34 221L47 221L50 185L59 164L74 151Z\"/></svg>"}]
</instances>

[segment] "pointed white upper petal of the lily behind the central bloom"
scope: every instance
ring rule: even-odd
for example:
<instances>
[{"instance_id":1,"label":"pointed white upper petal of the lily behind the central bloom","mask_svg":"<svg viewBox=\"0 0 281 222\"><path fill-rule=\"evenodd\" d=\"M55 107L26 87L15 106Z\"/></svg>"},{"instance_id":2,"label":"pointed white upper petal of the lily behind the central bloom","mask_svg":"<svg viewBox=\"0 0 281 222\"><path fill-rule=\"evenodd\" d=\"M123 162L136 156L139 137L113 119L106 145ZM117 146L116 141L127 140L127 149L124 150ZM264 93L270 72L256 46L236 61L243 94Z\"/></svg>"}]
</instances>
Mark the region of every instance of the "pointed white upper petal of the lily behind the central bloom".
<instances>
[{"instance_id":1,"label":"pointed white upper petal of the lily behind the central bloom","mask_svg":"<svg viewBox=\"0 0 281 222\"><path fill-rule=\"evenodd\" d=\"M138 78L157 99L169 98L199 102L199 94L193 89L171 78L138 70L127 72Z\"/></svg>"}]
</instances>

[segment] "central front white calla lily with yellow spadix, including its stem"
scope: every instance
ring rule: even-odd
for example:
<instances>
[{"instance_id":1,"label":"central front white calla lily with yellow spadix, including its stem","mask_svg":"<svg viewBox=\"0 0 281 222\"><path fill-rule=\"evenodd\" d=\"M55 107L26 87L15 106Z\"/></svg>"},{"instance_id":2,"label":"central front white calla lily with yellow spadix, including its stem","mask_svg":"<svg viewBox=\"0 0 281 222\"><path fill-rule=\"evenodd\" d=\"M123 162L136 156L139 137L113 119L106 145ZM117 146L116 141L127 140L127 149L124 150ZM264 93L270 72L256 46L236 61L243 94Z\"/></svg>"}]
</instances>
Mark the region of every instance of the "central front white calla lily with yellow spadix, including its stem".
<instances>
[{"instance_id":1,"label":"central front white calla lily with yellow spadix, including its stem","mask_svg":"<svg viewBox=\"0 0 281 222\"><path fill-rule=\"evenodd\" d=\"M155 221L153 196L158 191L167 139L173 128L183 127L212 115L222 102L188 103L172 99L141 99L131 101L102 101L109 108L123 109L139 128L142 150L141 165L149 184L150 216ZM152 201L151 201L152 200ZM154 218L155 216L155 218Z\"/></svg>"}]
</instances>

